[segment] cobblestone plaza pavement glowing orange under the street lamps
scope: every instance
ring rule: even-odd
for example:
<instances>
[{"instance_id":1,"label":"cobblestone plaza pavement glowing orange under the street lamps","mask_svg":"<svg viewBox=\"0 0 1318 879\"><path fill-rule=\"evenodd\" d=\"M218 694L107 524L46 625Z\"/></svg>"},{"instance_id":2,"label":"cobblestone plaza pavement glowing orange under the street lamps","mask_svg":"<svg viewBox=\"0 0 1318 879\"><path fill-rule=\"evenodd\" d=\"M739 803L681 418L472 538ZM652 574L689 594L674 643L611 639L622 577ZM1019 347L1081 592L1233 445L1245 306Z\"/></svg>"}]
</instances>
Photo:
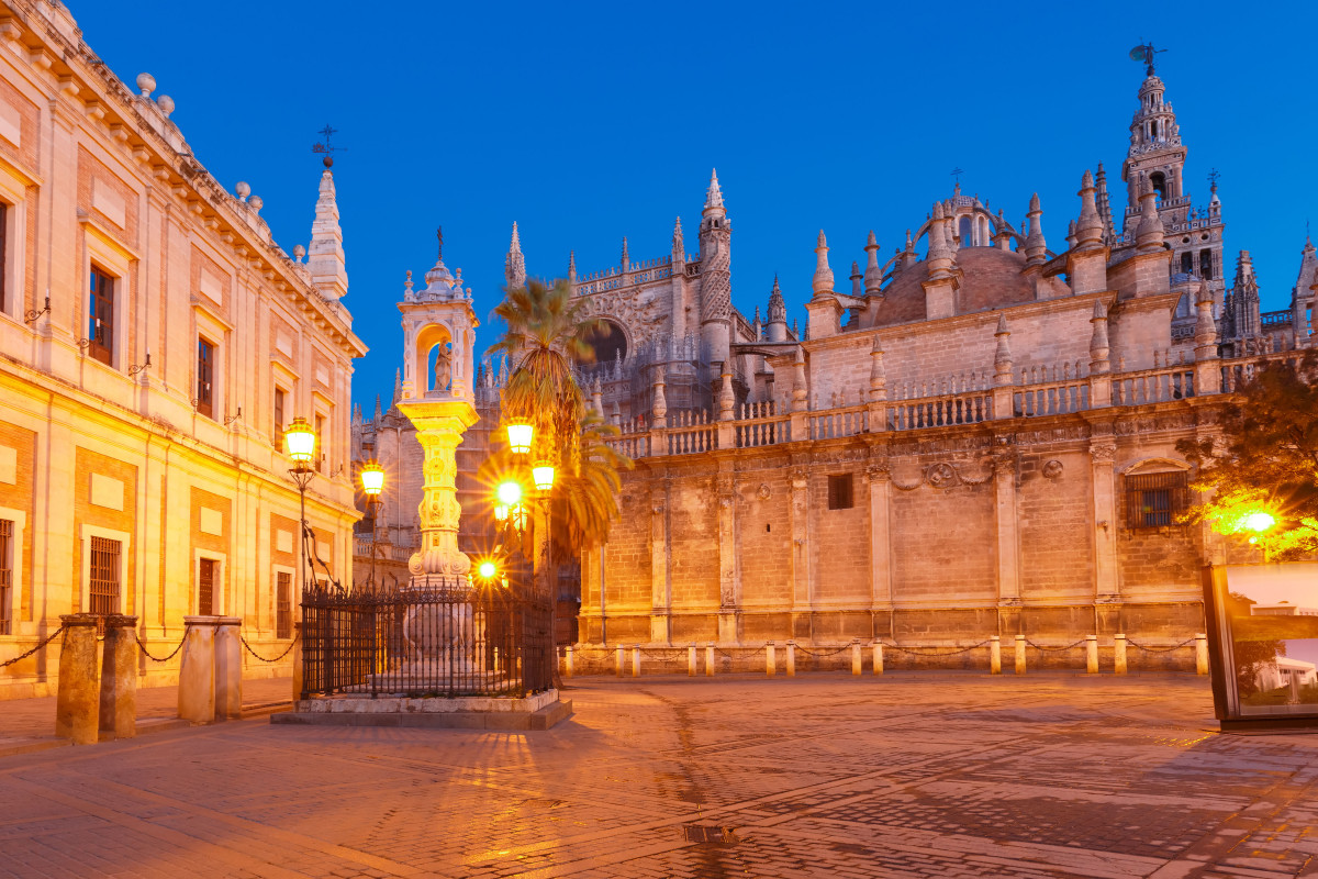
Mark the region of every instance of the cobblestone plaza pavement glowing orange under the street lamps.
<instances>
[{"instance_id":1,"label":"cobblestone plaza pavement glowing orange under the street lamps","mask_svg":"<svg viewBox=\"0 0 1318 879\"><path fill-rule=\"evenodd\" d=\"M7 758L0 876L1318 876L1318 735L1207 731L1205 679L569 696L547 733L261 720Z\"/></svg>"}]
</instances>

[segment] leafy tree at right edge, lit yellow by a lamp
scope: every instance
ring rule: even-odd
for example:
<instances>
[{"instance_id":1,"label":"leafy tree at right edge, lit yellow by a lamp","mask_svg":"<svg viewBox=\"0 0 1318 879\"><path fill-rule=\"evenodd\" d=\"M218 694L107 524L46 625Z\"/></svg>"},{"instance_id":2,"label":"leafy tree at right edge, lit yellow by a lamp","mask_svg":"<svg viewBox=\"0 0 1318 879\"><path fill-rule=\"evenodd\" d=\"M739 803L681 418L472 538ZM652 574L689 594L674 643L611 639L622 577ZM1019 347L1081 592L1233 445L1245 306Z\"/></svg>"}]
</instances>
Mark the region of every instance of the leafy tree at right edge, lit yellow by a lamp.
<instances>
[{"instance_id":1,"label":"leafy tree at right edge, lit yellow by a lamp","mask_svg":"<svg viewBox=\"0 0 1318 879\"><path fill-rule=\"evenodd\" d=\"M1220 534L1252 534L1277 561L1318 552L1318 354L1272 361L1222 410L1220 438L1185 439L1191 484L1211 497L1184 517Z\"/></svg>"}]
</instances>

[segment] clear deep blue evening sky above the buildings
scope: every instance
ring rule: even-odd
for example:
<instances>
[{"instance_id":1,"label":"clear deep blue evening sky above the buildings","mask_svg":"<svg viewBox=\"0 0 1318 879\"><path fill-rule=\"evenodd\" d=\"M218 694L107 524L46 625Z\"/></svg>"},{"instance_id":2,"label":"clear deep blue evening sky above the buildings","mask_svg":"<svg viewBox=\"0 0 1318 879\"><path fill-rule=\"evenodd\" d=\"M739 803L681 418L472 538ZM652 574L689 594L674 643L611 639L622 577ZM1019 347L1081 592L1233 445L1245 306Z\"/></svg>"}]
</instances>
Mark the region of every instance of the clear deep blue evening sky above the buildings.
<instances>
[{"instance_id":1,"label":"clear deep blue evening sky above the buildings","mask_svg":"<svg viewBox=\"0 0 1318 879\"><path fill-rule=\"evenodd\" d=\"M804 320L818 229L845 277L870 228L891 253L958 166L963 190L1017 228L1037 191L1060 250L1082 171L1103 161L1119 178L1144 76L1127 51L1143 41L1169 49L1159 74L1186 188L1205 204L1220 171L1226 262L1253 253L1264 310L1289 304L1305 221L1318 223L1307 3L1199 3L1139 25L1093 4L67 1L121 79L150 71L174 98L221 183L252 184L289 252L310 237L316 130L340 130L368 415L401 362L403 273L434 264L438 224L482 322L513 220L532 275L565 274L571 249L583 274L617 265L622 236L633 260L664 256L677 215L693 252L712 166L746 314L776 271Z\"/></svg>"}]
</instances>

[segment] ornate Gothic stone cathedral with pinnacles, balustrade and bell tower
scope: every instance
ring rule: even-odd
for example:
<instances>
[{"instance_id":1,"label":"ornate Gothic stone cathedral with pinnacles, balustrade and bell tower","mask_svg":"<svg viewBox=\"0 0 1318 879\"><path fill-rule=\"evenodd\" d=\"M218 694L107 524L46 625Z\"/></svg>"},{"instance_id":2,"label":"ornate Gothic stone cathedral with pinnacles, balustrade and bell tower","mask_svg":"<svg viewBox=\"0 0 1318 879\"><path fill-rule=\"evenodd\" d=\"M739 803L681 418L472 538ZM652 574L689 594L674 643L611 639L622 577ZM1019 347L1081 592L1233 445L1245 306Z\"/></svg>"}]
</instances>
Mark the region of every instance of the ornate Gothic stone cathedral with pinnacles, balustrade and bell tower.
<instances>
[{"instance_id":1,"label":"ornate Gothic stone cathedral with pinnacles, balustrade and bell tower","mask_svg":"<svg viewBox=\"0 0 1318 879\"><path fill-rule=\"evenodd\" d=\"M957 187L890 256L869 232L845 279L821 231L800 326L776 279L763 316L731 306L717 174L695 253L679 219L668 256L633 261L623 240L619 264L589 274L569 257L602 327L579 381L637 463L609 543L581 559L573 640L1201 631L1202 565L1252 552L1177 522L1194 497L1174 447L1211 435L1257 364L1311 344L1318 260L1306 241L1292 307L1260 314L1248 250L1228 279L1215 175L1207 203L1188 191L1152 65L1136 98L1124 199L1103 165L1078 173L1062 246L1037 196L1017 229ZM515 224L505 268L525 283ZM507 369L476 376L468 473ZM406 447L403 422L358 414L355 447ZM471 481L468 499L486 505ZM414 509L391 513L390 539L411 539Z\"/></svg>"}]
</instances>

